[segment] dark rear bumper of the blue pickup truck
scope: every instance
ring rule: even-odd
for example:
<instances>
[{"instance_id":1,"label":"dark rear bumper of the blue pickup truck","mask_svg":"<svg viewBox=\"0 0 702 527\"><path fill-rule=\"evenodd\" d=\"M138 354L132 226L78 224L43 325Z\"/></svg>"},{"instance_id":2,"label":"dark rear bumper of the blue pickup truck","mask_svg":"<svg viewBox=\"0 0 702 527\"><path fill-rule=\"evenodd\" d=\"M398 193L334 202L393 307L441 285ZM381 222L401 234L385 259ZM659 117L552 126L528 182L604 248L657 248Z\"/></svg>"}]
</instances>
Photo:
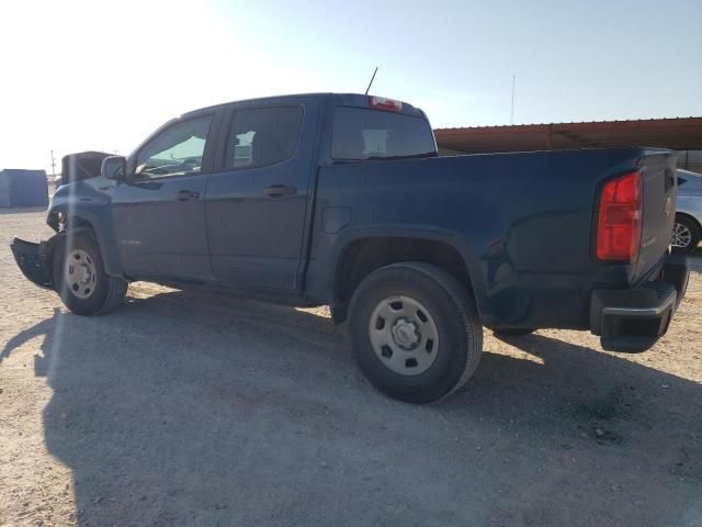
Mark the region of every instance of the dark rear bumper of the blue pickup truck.
<instances>
[{"instance_id":1,"label":"dark rear bumper of the blue pickup truck","mask_svg":"<svg viewBox=\"0 0 702 527\"><path fill-rule=\"evenodd\" d=\"M590 301L590 330L608 351L646 351L666 334L688 288L684 256L669 256L657 281L633 289L598 289Z\"/></svg>"}]
</instances>

